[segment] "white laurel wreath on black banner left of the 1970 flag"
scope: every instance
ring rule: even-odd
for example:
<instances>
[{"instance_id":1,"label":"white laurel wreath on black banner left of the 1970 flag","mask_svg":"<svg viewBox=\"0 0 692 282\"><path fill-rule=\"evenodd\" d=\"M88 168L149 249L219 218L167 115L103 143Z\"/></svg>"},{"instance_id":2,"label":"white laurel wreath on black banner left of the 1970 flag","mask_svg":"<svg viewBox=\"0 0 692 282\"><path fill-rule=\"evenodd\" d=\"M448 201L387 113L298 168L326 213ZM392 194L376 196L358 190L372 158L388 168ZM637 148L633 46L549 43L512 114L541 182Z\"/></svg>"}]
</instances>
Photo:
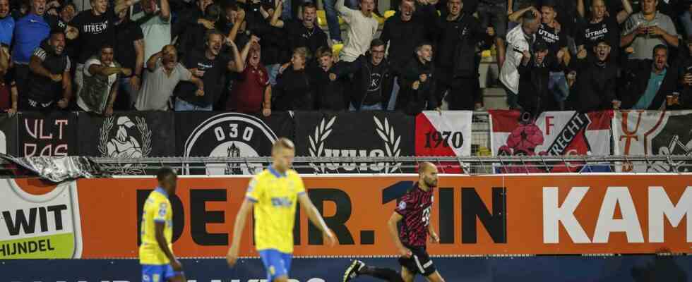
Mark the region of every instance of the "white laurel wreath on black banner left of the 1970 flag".
<instances>
[{"instance_id":1,"label":"white laurel wreath on black banner left of the 1970 flag","mask_svg":"<svg viewBox=\"0 0 692 282\"><path fill-rule=\"evenodd\" d=\"M384 141L385 151L387 157L399 157L401 154L401 149L399 147L401 142L401 136L395 135L394 127L390 125L387 118L384 118L384 123L382 123L376 116L373 116L376 125L376 133ZM322 157L324 153L324 143L327 137L332 133L332 127L336 121L336 116L330 118L329 121L323 118L318 126L315 127L314 135L308 136L308 141L310 142L310 147L308 151L311 157ZM324 165L318 166L317 164L310 163L310 166L314 168L317 173L325 173L326 168ZM393 173L397 171L401 166L401 163L387 163L385 165L386 173Z\"/></svg>"}]
</instances>

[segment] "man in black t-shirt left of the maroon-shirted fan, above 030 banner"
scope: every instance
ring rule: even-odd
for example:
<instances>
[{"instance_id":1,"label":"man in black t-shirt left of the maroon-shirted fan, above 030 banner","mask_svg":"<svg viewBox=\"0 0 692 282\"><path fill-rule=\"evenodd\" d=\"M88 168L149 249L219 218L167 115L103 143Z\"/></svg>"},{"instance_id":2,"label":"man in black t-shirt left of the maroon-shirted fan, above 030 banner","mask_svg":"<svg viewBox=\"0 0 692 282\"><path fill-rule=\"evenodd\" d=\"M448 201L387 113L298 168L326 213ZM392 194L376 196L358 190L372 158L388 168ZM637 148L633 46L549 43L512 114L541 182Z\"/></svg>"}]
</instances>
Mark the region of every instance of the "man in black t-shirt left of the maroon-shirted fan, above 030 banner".
<instances>
[{"instance_id":1,"label":"man in black t-shirt left of the maroon-shirted fan, above 030 banner","mask_svg":"<svg viewBox=\"0 0 692 282\"><path fill-rule=\"evenodd\" d=\"M233 53L232 59L221 53L224 41ZM175 111L211 111L224 90L223 78L226 71L240 73L244 69L238 47L232 40L226 40L217 30L207 32L205 49L193 51L186 56L183 65L204 82L204 94L198 96L197 86L193 83L180 82L174 91Z\"/></svg>"}]
</instances>

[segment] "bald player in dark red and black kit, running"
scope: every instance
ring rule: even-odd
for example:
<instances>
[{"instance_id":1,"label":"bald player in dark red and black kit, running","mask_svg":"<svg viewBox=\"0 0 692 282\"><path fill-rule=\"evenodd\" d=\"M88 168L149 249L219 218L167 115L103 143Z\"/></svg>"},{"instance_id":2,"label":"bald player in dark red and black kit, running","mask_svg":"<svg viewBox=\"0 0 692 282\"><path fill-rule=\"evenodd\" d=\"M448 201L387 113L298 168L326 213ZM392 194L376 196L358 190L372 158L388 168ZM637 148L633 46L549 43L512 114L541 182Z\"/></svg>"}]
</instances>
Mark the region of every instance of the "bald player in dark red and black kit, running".
<instances>
[{"instance_id":1,"label":"bald player in dark red and black kit, running","mask_svg":"<svg viewBox=\"0 0 692 282\"><path fill-rule=\"evenodd\" d=\"M440 242L430 224L433 188L437 186L437 167L431 163L423 163L419 166L418 173L418 182L401 197L388 222L389 233L401 254L401 273L393 269L366 266L363 262L354 260L346 269L343 282L361 275L384 281L412 282L417 274L424 276L427 281L444 281L426 252L428 234L432 243Z\"/></svg>"}]
</instances>

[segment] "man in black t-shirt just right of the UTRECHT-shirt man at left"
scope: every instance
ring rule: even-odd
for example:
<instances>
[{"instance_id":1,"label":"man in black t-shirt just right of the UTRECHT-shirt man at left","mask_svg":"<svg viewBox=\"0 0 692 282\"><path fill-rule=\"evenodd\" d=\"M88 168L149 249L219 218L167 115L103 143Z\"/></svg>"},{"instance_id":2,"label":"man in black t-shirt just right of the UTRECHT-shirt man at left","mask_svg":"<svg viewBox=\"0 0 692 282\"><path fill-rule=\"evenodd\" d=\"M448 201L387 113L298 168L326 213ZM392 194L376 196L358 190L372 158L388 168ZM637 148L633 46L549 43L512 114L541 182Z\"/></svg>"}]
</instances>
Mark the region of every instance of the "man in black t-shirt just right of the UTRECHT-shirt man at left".
<instances>
[{"instance_id":1,"label":"man in black t-shirt just right of the UTRECHT-shirt man at left","mask_svg":"<svg viewBox=\"0 0 692 282\"><path fill-rule=\"evenodd\" d=\"M120 91L125 95L119 95L115 104L117 110L132 109L132 105L137 100L142 69L144 66L144 34L139 25L128 16L128 11L124 10L118 14L118 22L115 24L115 61L123 68L132 70L130 76L118 78Z\"/></svg>"}]
</instances>

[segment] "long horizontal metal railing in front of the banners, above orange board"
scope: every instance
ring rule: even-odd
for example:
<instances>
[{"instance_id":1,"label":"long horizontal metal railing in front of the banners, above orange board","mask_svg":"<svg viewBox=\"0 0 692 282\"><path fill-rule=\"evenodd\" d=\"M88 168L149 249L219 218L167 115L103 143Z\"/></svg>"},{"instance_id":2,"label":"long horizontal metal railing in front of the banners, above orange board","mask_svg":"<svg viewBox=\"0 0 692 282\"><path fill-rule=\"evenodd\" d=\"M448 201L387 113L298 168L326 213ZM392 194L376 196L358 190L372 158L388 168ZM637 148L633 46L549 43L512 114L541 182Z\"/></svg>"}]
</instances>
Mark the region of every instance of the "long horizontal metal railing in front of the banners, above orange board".
<instances>
[{"instance_id":1,"label":"long horizontal metal railing in front of the banners, above orange board","mask_svg":"<svg viewBox=\"0 0 692 282\"><path fill-rule=\"evenodd\" d=\"M177 168L186 175L252 174L271 163L270 157L160 157L141 159L93 158L112 174L153 174L162 166ZM388 166L381 173L414 173L428 161L440 173L597 173L635 172L686 173L692 171L692 157L668 156L535 156L535 157L296 157L293 168L301 173L374 173L372 167ZM319 167L336 169L320 171ZM137 171L138 173L126 173ZM375 172L376 173L376 172Z\"/></svg>"}]
</instances>

